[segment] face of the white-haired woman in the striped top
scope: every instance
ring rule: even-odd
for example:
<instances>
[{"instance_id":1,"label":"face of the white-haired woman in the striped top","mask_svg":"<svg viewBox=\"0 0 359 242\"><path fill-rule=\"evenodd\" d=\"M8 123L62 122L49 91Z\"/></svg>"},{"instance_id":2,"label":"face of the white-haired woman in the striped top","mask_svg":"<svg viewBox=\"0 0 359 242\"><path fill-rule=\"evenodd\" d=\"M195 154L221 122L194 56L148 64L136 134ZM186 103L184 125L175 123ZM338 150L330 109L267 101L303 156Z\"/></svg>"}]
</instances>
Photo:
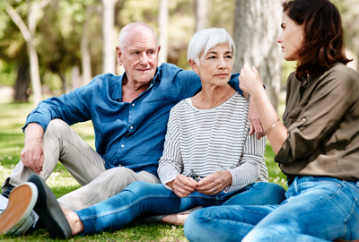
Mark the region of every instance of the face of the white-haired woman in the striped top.
<instances>
[{"instance_id":1,"label":"face of the white-haired woman in the striped top","mask_svg":"<svg viewBox=\"0 0 359 242\"><path fill-rule=\"evenodd\" d=\"M211 48L206 56L199 56L199 65L192 60L189 64L199 74L202 82L217 86L225 85L231 78L233 67L232 49L228 44L219 44Z\"/></svg>"}]
</instances>

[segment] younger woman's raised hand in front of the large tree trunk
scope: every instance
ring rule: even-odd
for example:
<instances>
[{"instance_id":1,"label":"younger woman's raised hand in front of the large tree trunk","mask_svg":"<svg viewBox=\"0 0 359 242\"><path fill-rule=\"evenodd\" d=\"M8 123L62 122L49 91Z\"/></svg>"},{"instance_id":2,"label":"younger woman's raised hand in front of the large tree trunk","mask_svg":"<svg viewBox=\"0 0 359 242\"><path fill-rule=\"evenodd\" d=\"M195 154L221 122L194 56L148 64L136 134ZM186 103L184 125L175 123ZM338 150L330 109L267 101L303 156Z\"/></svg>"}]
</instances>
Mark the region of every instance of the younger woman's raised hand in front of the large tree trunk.
<instances>
[{"instance_id":1,"label":"younger woman's raised hand in front of the large tree trunk","mask_svg":"<svg viewBox=\"0 0 359 242\"><path fill-rule=\"evenodd\" d=\"M240 75L240 88L250 95L254 95L258 89L263 89L263 81L256 67L251 67L248 62L243 65Z\"/></svg>"}]
</instances>

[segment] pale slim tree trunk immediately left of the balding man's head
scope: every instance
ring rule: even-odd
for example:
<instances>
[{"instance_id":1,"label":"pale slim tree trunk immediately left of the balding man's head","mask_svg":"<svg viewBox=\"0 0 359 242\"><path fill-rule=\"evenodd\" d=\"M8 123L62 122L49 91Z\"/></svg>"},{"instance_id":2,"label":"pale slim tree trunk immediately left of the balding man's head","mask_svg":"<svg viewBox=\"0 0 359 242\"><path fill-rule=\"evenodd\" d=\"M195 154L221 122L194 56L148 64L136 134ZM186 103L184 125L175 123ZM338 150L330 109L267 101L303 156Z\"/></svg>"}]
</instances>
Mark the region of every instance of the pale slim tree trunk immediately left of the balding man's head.
<instances>
[{"instance_id":1,"label":"pale slim tree trunk immediately left of the balding man's head","mask_svg":"<svg viewBox=\"0 0 359 242\"><path fill-rule=\"evenodd\" d=\"M103 2L103 73L115 73L115 48L112 46L112 30L115 23L115 4L118 0Z\"/></svg>"}]
</instances>

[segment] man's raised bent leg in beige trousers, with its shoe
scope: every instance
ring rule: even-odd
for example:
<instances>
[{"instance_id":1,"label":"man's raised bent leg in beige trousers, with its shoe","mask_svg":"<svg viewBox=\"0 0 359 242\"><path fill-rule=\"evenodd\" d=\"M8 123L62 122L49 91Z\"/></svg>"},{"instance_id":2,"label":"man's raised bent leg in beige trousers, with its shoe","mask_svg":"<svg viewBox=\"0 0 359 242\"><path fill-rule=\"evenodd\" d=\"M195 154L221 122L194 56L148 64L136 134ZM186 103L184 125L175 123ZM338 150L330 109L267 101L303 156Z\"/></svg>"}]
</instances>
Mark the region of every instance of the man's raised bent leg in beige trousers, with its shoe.
<instances>
[{"instance_id":1,"label":"man's raised bent leg in beige trousers, with its shoe","mask_svg":"<svg viewBox=\"0 0 359 242\"><path fill-rule=\"evenodd\" d=\"M45 181L55 169L57 160L64 164L81 186L99 177L106 170L101 156L60 119L54 119L48 124L42 149L45 160L39 177ZM10 177L4 181L3 191L10 186L19 186L26 182L32 173L33 171L25 168L20 161Z\"/></svg>"}]
</instances>

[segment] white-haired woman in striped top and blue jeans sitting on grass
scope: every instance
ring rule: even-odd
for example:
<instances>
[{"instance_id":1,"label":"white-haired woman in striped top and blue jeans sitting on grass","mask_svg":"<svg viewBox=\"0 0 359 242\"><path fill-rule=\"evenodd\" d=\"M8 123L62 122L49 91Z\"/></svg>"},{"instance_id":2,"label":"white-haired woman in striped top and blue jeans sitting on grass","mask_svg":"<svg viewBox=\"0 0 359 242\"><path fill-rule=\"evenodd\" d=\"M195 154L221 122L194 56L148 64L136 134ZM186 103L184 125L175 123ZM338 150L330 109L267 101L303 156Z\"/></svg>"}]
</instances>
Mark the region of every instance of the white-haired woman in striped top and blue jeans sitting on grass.
<instances>
[{"instance_id":1,"label":"white-haired woman in striped top and blue jeans sitting on grass","mask_svg":"<svg viewBox=\"0 0 359 242\"><path fill-rule=\"evenodd\" d=\"M35 206L53 238L126 227L142 214L171 214L196 206L276 204L285 189L267 182L266 138L249 135L249 101L227 83L235 47L223 29L198 31L188 61L202 91L171 109L158 174L162 184L136 182L81 211L61 209L36 175Z\"/></svg>"}]
</instances>

